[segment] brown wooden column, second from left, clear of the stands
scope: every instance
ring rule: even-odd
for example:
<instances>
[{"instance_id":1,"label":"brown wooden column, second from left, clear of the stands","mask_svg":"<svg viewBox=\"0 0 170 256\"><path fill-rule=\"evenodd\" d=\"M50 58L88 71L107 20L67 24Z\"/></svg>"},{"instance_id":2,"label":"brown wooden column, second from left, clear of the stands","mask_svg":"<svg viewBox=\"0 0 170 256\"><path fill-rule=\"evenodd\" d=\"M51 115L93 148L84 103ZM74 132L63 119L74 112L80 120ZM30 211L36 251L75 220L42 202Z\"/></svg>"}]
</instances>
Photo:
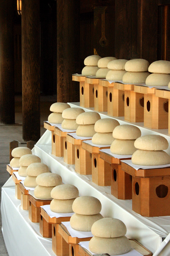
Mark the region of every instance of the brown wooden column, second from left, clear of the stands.
<instances>
[{"instance_id":1,"label":"brown wooden column, second from left, clear of the stands","mask_svg":"<svg viewBox=\"0 0 170 256\"><path fill-rule=\"evenodd\" d=\"M22 0L23 139L40 138L40 0Z\"/></svg>"}]
</instances>

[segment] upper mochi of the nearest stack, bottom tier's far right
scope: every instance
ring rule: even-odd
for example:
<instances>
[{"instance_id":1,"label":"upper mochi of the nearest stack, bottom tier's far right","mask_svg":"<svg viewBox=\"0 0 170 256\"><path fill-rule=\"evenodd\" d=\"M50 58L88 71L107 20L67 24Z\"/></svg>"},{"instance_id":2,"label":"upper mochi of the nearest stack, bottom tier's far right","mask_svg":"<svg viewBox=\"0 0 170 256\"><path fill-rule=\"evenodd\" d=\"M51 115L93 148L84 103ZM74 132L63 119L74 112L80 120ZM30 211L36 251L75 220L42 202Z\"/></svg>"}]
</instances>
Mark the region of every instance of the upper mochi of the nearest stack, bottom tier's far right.
<instances>
[{"instance_id":1,"label":"upper mochi of the nearest stack, bottom tier's far right","mask_svg":"<svg viewBox=\"0 0 170 256\"><path fill-rule=\"evenodd\" d=\"M126 231L123 221L117 218L102 218L91 227L91 233L94 236L105 238L125 236Z\"/></svg>"}]
</instances>

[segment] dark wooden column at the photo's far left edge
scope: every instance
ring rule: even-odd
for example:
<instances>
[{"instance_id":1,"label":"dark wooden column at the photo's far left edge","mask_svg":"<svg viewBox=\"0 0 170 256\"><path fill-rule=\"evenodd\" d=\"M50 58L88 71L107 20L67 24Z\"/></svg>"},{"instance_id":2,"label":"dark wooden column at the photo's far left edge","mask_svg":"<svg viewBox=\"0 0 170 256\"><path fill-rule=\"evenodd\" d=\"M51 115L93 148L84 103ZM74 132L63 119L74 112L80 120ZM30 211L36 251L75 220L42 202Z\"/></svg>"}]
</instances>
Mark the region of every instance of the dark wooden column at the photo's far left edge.
<instances>
[{"instance_id":1,"label":"dark wooden column at the photo's far left edge","mask_svg":"<svg viewBox=\"0 0 170 256\"><path fill-rule=\"evenodd\" d=\"M4 124L15 123L13 3L0 2L0 122Z\"/></svg>"}]
</instances>

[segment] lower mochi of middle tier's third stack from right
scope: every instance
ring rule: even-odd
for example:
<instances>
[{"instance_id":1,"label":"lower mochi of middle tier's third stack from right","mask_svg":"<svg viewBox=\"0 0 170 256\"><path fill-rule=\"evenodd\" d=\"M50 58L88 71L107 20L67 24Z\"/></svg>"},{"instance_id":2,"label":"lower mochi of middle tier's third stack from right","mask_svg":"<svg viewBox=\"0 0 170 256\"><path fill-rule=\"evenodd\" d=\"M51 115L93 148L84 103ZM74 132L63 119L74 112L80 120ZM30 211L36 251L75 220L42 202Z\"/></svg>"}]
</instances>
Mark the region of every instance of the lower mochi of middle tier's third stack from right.
<instances>
[{"instance_id":1,"label":"lower mochi of middle tier's third stack from right","mask_svg":"<svg viewBox=\"0 0 170 256\"><path fill-rule=\"evenodd\" d=\"M96 132L92 137L92 143L96 145L111 145L113 140L112 132Z\"/></svg>"}]
</instances>

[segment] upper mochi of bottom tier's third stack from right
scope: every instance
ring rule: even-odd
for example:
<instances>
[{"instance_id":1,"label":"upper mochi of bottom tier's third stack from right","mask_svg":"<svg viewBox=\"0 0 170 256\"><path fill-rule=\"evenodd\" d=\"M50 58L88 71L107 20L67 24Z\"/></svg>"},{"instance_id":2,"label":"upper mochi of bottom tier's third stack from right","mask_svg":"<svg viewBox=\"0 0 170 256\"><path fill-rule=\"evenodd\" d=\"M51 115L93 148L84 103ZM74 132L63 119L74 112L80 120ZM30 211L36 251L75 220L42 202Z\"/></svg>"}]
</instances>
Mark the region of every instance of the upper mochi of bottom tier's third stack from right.
<instances>
[{"instance_id":1,"label":"upper mochi of bottom tier's third stack from right","mask_svg":"<svg viewBox=\"0 0 170 256\"><path fill-rule=\"evenodd\" d=\"M62 184L54 187L51 191L51 198L58 200L73 199L79 196L79 190L71 184Z\"/></svg>"}]
</instances>

